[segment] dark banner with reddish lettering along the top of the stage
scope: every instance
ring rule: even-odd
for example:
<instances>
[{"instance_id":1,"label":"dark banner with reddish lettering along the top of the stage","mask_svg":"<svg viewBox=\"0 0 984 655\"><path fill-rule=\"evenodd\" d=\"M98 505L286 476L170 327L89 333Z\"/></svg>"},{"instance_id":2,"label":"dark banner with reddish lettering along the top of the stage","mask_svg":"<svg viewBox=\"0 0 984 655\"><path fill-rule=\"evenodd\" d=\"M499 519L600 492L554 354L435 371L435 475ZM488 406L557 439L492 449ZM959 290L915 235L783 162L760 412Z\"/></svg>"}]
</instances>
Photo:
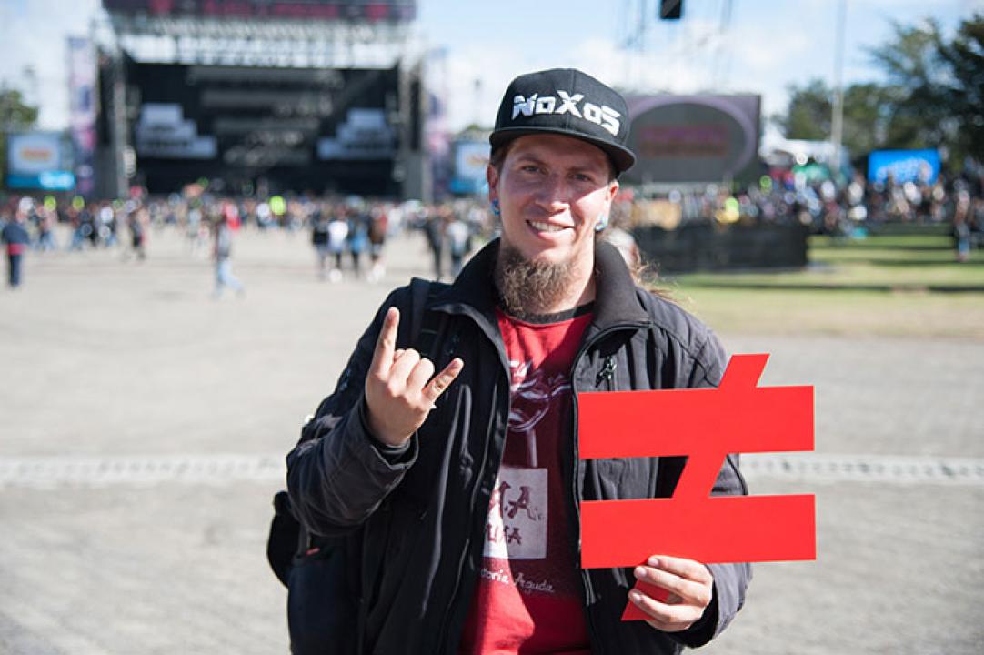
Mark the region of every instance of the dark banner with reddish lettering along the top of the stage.
<instances>
[{"instance_id":1,"label":"dark banner with reddish lettering along the top of the stage","mask_svg":"<svg viewBox=\"0 0 984 655\"><path fill-rule=\"evenodd\" d=\"M304 21L412 21L416 5L416 0L102 0L110 14Z\"/></svg>"}]
</instances>

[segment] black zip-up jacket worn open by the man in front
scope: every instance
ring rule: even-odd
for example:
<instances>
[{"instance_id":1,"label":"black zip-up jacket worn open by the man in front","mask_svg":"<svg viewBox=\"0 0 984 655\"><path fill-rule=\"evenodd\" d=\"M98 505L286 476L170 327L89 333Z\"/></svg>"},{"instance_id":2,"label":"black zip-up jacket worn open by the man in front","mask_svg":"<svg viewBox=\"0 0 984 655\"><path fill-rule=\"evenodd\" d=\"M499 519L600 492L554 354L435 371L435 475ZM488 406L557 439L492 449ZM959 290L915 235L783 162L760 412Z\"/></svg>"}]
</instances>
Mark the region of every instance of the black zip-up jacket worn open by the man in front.
<instances>
[{"instance_id":1,"label":"black zip-up jacket worn open by the man in front","mask_svg":"<svg viewBox=\"0 0 984 655\"><path fill-rule=\"evenodd\" d=\"M492 270L498 241L468 263L430 310L450 318L431 351L436 369L464 361L426 423L402 451L369 434L364 377L386 309L400 308L400 339L411 314L408 288L393 292L358 342L335 393L287 457L294 512L309 531L353 535L362 547L360 652L454 653L482 562L489 497L509 423L509 364L495 318ZM697 319L633 284L618 251L595 250L596 299L571 380L575 394L716 386L726 365L720 344ZM398 342L400 341L398 339ZM571 426L577 425L577 401ZM658 421L658 419L656 419ZM579 461L566 441L571 543L577 550L582 500L669 496L679 457ZM746 493L728 457L714 493ZM580 553L576 552L576 561ZM621 622L631 569L582 569L585 619L595 653L678 653L706 643L744 602L748 564L711 564L714 598L705 617L669 634Z\"/></svg>"}]
</instances>

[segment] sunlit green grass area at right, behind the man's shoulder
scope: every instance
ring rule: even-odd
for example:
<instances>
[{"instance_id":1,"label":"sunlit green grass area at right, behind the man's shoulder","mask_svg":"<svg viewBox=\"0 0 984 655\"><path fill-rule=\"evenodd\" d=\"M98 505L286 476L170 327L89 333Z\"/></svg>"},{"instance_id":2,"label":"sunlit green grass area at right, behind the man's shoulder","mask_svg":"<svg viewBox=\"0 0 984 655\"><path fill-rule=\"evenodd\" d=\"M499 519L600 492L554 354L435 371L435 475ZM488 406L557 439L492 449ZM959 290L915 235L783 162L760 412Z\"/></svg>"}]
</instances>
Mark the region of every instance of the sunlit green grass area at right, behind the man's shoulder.
<instances>
[{"instance_id":1,"label":"sunlit green grass area at right, behind the man's shoulder","mask_svg":"<svg viewBox=\"0 0 984 655\"><path fill-rule=\"evenodd\" d=\"M814 236L811 265L697 273L657 285L719 331L984 340L984 252L945 235Z\"/></svg>"}]
</instances>

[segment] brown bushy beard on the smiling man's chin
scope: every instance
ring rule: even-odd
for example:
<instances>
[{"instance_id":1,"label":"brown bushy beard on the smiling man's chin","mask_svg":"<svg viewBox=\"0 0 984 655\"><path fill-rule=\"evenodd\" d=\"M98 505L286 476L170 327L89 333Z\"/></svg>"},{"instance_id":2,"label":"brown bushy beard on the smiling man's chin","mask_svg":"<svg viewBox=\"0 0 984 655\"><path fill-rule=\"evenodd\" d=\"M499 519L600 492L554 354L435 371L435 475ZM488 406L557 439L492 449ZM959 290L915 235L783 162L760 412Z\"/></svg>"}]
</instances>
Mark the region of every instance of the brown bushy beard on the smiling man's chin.
<instances>
[{"instance_id":1,"label":"brown bushy beard on the smiling man's chin","mask_svg":"<svg viewBox=\"0 0 984 655\"><path fill-rule=\"evenodd\" d=\"M495 284L503 308L512 316L549 313L570 290L574 262L541 262L523 257L516 248L502 243L495 266Z\"/></svg>"}]
</instances>

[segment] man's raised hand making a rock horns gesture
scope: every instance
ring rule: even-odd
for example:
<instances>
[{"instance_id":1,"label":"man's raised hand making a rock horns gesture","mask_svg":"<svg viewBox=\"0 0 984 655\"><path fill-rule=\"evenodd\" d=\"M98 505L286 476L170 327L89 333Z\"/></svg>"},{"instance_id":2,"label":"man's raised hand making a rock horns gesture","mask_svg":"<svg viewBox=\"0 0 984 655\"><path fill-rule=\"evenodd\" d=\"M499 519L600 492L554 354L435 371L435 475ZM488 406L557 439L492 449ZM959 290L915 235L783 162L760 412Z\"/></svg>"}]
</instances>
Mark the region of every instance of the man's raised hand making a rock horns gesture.
<instances>
[{"instance_id":1,"label":"man's raised hand making a rock horns gesture","mask_svg":"<svg viewBox=\"0 0 984 655\"><path fill-rule=\"evenodd\" d=\"M464 362L455 358L434 375L431 360L421 358L413 349L396 350L399 326L400 310L390 307L365 384L369 429L391 446L402 445L423 425L434 402L464 367Z\"/></svg>"}]
</instances>

